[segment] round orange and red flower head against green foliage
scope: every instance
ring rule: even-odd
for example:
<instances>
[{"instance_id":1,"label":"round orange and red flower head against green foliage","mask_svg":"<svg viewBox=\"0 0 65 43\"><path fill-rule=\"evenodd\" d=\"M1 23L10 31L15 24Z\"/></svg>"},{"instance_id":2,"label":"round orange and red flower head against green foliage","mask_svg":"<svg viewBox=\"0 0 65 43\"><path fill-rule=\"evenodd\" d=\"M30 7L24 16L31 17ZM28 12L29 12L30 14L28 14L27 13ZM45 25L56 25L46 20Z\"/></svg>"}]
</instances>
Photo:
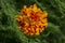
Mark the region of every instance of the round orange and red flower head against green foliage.
<instances>
[{"instance_id":1,"label":"round orange and red flower head against green foliage","mask_svg":"<svg viewBox=\"0 0 65 43\"><path fill-rule=\"evenodd\" d=\"M21 13L16 15L20 29L28 35L38 35L48 26L47 11L41 11L36 4L24 5Z\"/></svg>"}]
</instances>

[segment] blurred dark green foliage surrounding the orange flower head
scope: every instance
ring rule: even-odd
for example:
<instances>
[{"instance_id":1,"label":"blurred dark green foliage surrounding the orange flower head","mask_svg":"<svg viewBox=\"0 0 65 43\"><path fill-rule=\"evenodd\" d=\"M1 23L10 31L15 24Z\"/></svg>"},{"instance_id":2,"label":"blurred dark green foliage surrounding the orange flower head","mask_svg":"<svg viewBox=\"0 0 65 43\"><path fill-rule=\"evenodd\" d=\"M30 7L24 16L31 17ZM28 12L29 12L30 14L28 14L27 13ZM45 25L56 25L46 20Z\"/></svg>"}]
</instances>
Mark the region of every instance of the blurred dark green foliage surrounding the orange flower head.
<instances>
[{"instance_id":1,"label":"blurred dark green foliage surrounding the orange flower head","mask_svg":"<svg viewBox=\"0 0 65 43\"><path fill-rule=\"evenodd\" d=\"M28 37L18 30L15 15L34 3L48 12L48 28ZM0 0L0 43L65 43L65 0Z\"/></svg>"}]
</instances>

